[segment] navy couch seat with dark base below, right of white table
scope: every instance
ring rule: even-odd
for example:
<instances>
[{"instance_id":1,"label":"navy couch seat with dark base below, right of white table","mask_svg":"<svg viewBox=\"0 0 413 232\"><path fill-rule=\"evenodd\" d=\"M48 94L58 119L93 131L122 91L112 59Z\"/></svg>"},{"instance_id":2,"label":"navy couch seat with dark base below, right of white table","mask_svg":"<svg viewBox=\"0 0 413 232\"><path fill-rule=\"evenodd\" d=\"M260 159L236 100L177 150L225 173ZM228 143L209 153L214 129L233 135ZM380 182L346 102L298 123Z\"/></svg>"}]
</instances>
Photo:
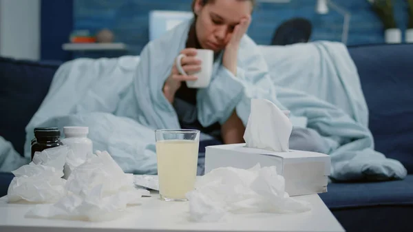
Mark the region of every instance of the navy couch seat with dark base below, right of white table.
<instances>
[{"instance_id":1,"label":"navy couch seat with dark base below, right of white table","mask_svg":"<svg viewBox=\"0 0 413 232\"><path fill-rule=\"evenodd\" d=\"M413 175L389 182L331 183L319 196L346 231L413 231Z\"/></svg>"}]
</instances>

